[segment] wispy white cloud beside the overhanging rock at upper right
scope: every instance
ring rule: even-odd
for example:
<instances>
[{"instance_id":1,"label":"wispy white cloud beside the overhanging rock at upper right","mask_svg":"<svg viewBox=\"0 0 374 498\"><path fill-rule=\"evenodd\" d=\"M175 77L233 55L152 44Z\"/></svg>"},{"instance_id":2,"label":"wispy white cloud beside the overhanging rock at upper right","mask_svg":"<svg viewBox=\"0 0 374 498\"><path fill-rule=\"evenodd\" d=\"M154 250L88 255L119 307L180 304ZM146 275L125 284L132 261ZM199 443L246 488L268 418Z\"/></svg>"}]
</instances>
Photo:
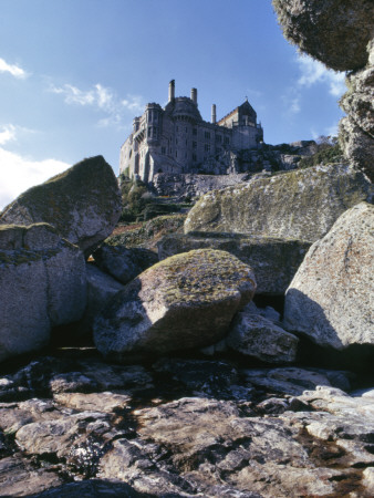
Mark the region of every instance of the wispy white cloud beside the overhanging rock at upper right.
<instances>
[{"instance_id":1,"label":"wispy white cloud beside the overhanging rock at upper right","mask_svg":"<svg viewBox=\"0 0 374 498\"><path fill-rule=\"evenodd\" d=\"M336 73L326 69L322 62L314 61L308 55L298 56L298 65L301 76L298 80L298 86L310 87L315 83L325 83L329 85L331 95L341 96L345 91L345 73Z\"/></svg>"}]
</instances>

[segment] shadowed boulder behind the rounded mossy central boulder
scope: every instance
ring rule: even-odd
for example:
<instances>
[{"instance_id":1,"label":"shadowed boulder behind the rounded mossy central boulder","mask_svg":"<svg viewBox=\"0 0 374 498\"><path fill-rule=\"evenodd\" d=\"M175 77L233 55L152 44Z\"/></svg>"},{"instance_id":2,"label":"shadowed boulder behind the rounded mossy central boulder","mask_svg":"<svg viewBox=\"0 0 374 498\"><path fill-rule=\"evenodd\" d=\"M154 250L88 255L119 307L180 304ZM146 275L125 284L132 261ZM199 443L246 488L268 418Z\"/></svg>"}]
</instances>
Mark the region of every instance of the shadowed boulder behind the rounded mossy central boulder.
<instances>
[{"instance_id":1,"label":"shadowed boulder behind the rounded mossy central boulder","mask_svg":"<svg viewBox=\"0 0 374 498\"><path fill-rule=\"evenodd\" d=\"M276 295L284 294L311 242L233 234L172 234L157 246L160 260L193 249L230 252L253 269L258 294Z\"/></svg>"}]
</instances>

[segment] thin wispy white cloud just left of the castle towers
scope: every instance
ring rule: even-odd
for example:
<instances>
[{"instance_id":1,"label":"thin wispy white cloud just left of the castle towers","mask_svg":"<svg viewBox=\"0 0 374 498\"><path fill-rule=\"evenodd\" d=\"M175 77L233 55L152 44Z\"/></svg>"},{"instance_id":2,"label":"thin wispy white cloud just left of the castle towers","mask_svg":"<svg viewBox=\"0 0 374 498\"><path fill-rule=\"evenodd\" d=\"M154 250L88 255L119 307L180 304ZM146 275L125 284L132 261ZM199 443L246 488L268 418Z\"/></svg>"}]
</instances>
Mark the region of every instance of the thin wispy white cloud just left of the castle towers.
<instances>
[{"instance_id":1,"label":"thin wispy white cloud just left of the castle towers","mask_svg":"<svg viewBox=\"0 0 374 498\"><path fill-rule=\"evenodd\" d=\"M64 84L60 87L51 85L50 91L63 95L66 104L91 106L105 113L106 117L98 121L101 126L122 124L126 111L143 113L145 106L139 95L126 95L126 98L121 100L112 89L100 83L86 91L71 84Z\"/></svg>"}]
</instances>

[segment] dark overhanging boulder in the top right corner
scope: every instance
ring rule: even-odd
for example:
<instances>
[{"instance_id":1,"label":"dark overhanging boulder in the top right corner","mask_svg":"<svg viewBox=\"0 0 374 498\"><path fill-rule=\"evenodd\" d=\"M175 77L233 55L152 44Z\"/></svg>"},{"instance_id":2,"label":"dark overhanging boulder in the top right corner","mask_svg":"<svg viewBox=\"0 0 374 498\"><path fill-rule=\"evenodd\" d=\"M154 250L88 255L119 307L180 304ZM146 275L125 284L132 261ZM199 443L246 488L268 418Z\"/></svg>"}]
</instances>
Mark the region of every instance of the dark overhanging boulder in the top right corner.
<instances>
[{"instance_id":1,"label":"dark overhanging boulder in the top right corner","mask_svg":"<svg viewBox=\"0 0 374 498\"><path fill-rule=\"evenodd\" d=\"M372 0L273 0L283 34L335 71L363 68L373 38Z\"/></svg>"}]
</instances>

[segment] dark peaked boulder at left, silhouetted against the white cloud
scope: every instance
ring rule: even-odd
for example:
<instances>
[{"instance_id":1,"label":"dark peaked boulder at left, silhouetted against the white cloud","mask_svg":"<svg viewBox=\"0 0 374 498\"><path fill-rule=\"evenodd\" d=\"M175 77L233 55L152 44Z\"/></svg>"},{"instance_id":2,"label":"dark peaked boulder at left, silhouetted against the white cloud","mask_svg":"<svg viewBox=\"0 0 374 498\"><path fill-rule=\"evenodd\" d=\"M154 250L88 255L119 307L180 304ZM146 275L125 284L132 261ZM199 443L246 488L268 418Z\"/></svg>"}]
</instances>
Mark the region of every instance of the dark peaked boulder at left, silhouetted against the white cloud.
<instances>
[{"instance_id":1,"label":"dark peaked boulder at left, silhouetted against the white cloud","mask_svg":"<svg viewBox=\"0 0 374 498\"><path fill-rule=\"evenodd\" d=\"M30 188L4 208L2 225L48 222L90 253L111 232L121 215L121 193L102 156L77 163Z\"/></svg>"}]
</instances>

